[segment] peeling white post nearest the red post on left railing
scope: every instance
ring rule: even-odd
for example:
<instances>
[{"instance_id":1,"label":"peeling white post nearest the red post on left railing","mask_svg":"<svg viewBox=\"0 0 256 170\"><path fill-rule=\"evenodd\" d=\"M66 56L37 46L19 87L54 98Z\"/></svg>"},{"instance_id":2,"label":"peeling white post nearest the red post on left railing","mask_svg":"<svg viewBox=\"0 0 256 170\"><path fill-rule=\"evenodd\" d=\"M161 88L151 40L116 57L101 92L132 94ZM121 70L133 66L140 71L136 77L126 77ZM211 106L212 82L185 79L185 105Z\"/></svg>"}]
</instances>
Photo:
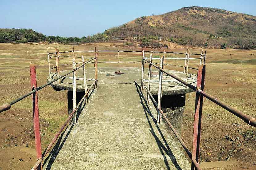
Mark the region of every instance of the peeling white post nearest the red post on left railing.
<instances>
[{"instance_id":1,"label":"peeling white post nearest the red post on left railing","mask_svg":"<svg viewBox=\"0 0 256 170\"><path fill-rule=\"evenodd\" d=\"M73 110L76 109L76 56L72 56L72 69L73 69ZM73 116L73 122L76 124L76 113Z\"/></svg>"}]
</instances>

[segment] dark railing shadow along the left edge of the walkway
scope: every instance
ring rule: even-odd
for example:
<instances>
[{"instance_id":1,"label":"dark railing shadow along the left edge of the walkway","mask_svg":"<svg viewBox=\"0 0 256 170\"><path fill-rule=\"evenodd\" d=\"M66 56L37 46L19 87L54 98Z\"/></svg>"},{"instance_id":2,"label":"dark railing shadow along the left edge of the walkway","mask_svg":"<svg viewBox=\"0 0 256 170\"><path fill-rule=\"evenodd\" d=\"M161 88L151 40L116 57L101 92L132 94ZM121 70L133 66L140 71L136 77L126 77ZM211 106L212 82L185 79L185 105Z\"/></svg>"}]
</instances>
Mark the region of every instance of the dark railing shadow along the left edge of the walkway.
<instances>
[{"instance_id":1,"label":"dark railing shadow along the left edge of the walkway","mask_svg":"<svg viewBox=\"0 0 256 170\"><path fill-rule=\"evenodd\" d=\"M95 88L93 88L88 96L88 100L90 99L93 91ZM84 104L81 104L81 106L79 108L77 108L77 114L76 114L76 119L78 120L82 110L84 109L84 107L86 106L85 102ZM72 128L74 127L74 124L69 125L70 128L66 128L64 130L64 132L61 133L61 135L59 136L58 141L56 142L55 146L53 147L52 151L49 153L49 155L45 158L44 162L43 162L43 166L48 162L46 170L50 170L52 168L52 164L54 163L56 157L58 156L61 148L63 147L64 143L66 142ZM68 130L67 134L64 136L65 132ZM49 160L49 161L48 161Z\"/></svg>"}]
</instances>

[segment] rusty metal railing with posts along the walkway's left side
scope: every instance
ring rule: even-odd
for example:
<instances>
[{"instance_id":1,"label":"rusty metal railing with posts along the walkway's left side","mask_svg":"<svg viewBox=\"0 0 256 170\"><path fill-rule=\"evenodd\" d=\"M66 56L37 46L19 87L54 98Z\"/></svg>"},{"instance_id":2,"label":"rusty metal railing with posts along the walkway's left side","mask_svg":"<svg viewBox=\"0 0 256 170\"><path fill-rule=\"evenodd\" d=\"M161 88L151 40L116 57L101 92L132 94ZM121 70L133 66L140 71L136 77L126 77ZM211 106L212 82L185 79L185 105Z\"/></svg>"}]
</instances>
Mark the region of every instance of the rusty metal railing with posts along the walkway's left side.
<instances>
[{"instance_id":1,"label":"rusty metal railing with posts along the walkway's left side","mask_svg":"<svg viewBox=\"0 0 256 170\"><path fill-rule=\"evenodd\" d=\"M49 55L48 55L49 56ZM89 87L89 89L87 88L87 84L86 84L86 75L85 75L85 64L89 63L92 60L95 60L95 79L93 80L92 85ZM58 63L57 63L58 64ZM58 68L58 65L57 65ZM85 95L82 97L82 99L79 101L79 103L76 105L76 70L82 68L83 69L83 79L84 79L84 86L85 86ZM55 81L60 81L61 78L65 78L68 74L73 73L73 111L72 113L69 114L67 120L65 121L65 123L62 125L62 127L60 128L60 130L56 133L56 135L54 136L54 138L52 139L52 141L49 143L49 145L47 146L47 148L45 149L45 151L42 154L42 148L41 148L41 136L40 136L40 122L39 122L39 108L38 108L38 97L37 97L37 92L40 89L43 89L44 87L51 85L52 83L54 83ZM93 86L94 88L97 87L97 55L96 57L93 57L91 60L89 61L84 61L84 58L82 57L82 64L79 65L78 67L76 67L76 61L75 61L75 56L72 58L72 71L69 71L68 73L65 73L64 75L60 76L60 74L58 74L58 78L53 79L52 81L49 81L48 83L37 87L37 81L36 81L36 68L35 68L35 64L31 64L30 65L30 77L31 77L31 88L32 90L13 100L10 101L7 104L4 104L2 106L0 106L0 113L6 110L9 110L11 108L11 105L14 105L15 103L23 100L24 98L30 96L32 94L32 108L33 108L33 117L34 117L34 131L35 131L35 148L36 148L36 155L37 155L37 162L35 163L35 165L33 166L32 170L38 169L41 170L42 169L42 161L45 158L45 156L47 155L47 153L50 151L50 149L52 148L53 144L56 142L56 140L58 139L58 137L60 136L61 132L64 130L64 128L66 127L66 125L68 124L68 122L70 122L71 119L73 119L73 122L76 123L76 112L77 112L77 108L82 104L82 102L85 100L85 103L88 102L88 94L89 92L92 90Z\"/></svg>"}]
</instances>

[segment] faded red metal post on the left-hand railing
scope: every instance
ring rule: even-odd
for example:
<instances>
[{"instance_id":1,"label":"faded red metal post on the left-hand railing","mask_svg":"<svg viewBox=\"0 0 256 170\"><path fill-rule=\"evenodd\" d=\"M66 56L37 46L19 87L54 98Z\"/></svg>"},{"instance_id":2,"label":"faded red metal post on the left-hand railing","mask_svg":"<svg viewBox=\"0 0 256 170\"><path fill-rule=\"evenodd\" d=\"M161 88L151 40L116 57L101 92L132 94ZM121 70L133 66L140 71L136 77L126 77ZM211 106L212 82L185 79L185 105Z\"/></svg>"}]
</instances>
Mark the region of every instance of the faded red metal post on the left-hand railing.
<instances>
[{"instance_id":1,"label":"faded red metal post on the left-hand railing","mask_svg":"<svg viewBox=\"0 0 256 170\"><path fill-rule=\"evenodd\" d=\"M36 84L35 64L30 65L30 82L31 82L32 90L36 89L37 84ZM40 159L42 160L37 91L35 91L35 93L33 93L32 101L33 101L33 117L34 117L36 158L37 158L37 160L40 160ZM37 169L41 170L42 169L42 164L40 164Z\"/></svg>"}]
</instances>

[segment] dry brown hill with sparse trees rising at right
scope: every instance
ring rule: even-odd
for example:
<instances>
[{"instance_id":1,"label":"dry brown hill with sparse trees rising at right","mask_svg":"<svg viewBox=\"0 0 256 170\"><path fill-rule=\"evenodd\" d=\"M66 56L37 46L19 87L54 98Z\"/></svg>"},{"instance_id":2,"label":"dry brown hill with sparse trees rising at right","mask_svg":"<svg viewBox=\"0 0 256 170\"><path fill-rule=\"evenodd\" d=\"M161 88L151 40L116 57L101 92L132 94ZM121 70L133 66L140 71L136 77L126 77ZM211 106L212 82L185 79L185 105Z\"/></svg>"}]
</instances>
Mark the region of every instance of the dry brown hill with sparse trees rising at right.
<instances>
[{"instance_id":1,"label":"dry brown hill with sparse trees rising at right","mask_svg":"<svg viewBox=\"0 0 256 170\"><path fill-rule=\"evenodd\" d=\"M191 6L162 15L137 18L104 32L109 37L139 37L145 40L161 37L180 45L213 47L237 44L256 48L256 17L216 8ZM143 38L144 37L144 38Z\"/></svg>"}]
</instances>

